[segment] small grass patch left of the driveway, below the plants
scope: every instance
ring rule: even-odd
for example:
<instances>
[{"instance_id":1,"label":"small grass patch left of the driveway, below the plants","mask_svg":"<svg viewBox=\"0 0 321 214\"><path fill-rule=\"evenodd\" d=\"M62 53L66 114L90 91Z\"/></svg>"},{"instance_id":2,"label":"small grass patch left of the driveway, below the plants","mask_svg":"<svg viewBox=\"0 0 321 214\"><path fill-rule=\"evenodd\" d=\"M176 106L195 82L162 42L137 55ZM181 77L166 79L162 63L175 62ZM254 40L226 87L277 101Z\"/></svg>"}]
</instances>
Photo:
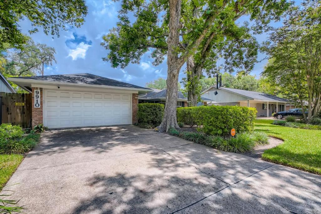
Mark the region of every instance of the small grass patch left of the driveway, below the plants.
<instances>
[{"instance_id":1,"label":"small grass patch left of the driveway, below the plants","mask_svg":"<svg viewBox=\"0 0 321 214\"><path fill-rule=\"evenodd\" d=\"M22 159L23 155L0 155L0 187L3 187L7 183Z\"/></svg>"}]
</instances>

